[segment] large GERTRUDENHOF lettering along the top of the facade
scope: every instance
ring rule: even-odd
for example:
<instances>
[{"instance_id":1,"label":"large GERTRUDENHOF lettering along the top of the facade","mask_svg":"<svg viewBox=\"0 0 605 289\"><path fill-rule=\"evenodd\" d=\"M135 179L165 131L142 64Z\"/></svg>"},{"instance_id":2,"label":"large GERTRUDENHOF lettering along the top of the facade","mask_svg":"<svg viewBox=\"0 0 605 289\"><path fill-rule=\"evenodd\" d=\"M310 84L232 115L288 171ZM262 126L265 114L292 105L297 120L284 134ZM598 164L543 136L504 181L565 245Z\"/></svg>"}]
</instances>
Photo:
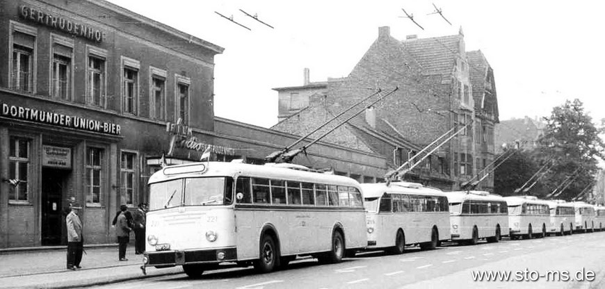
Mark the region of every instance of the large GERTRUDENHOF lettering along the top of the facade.
<instances>
[{"instance_id":1,"label":"large GERTRUDENHOF lettering along the top of the facade","mask_svg":"<svg viewBox=\"0 0 605 289\"><path fill-rule=\"evenodd\" d=\"M92 41L102 42L103 33L99 29L92 28L81 22L75 22L61 16L51 15L39 8L29 6L19 6L19 16L31 22L37 22L58 30L65 31L81 38L87 38Z\"/></svg>"}]
</instances>

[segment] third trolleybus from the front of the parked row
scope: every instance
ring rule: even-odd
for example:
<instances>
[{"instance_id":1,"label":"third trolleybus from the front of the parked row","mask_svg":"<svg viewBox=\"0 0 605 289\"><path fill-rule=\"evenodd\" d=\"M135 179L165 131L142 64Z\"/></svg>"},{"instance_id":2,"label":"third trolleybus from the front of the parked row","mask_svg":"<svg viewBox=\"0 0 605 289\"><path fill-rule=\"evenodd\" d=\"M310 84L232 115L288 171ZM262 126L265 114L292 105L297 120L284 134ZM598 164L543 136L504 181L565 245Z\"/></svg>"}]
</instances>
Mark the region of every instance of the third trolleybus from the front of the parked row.
<instances>
[{"instance_id":1,"label":"third trolleybus from the front of the parked row","mask_svg":"<svg viewBox=\"0 0 605 289\"><path fill-rule=\"evenodd\" d=\"M483 191L447 192L451 240L476 245L508 236L508 206L501 195Z\"/></svg>"}]
</instances>

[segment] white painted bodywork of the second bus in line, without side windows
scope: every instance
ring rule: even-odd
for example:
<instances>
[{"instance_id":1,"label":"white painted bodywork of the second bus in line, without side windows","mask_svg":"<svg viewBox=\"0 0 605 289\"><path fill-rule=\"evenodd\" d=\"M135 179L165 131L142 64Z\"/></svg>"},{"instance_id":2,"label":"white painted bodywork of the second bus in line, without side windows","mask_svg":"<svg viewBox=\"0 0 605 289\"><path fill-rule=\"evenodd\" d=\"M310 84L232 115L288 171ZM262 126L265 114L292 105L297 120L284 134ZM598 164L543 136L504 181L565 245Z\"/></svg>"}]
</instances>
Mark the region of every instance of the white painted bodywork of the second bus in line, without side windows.
<instances>
[{"instance_id":1,"label":"white painted bodywork of the second bus in line, without side windows","mask_svg":"<svg viewBox=\"0 0 605 289\"><path fill-rule=\"evenodd\" d=\"M437 229L438 240L449 240L449 212L446 195L441 190L426 188L419 183L392 182L362 183L366 206L368 249L394 247L399 230L403 231L405 245L431 242L433 228ZM444 201L440 211L414 211L414 208L380 211L382 197L387 195L426 196ZM393 203L392 203L393 204ZM371 208L369 208L371 206Z\"/></svg>"}]
</instances>

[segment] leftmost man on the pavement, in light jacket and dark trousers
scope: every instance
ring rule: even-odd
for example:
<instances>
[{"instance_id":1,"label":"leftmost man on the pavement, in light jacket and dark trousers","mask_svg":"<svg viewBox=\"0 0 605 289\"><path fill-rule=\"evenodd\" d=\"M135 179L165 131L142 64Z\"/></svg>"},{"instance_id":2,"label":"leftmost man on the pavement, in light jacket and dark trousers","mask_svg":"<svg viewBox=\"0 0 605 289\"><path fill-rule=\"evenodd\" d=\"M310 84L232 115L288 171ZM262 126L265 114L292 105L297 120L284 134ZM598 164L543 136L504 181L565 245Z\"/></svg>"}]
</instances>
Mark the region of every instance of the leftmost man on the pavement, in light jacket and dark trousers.
<instances>
[{"instance_id":1,"label":"leftmost man on the pavement, in light jacket and dark trousers","mask_svg":"<svg viewBox=\"0 0 605 289\"><path fill-rule=\"evenodd\" d=\"M82 252L84 251L84 238L82 236L82 222L78 216L82 207L77 203L72 203L71 212L65 217L67 225L67 269L80 269L82 261Z\"/></svg>"}]
</instances>

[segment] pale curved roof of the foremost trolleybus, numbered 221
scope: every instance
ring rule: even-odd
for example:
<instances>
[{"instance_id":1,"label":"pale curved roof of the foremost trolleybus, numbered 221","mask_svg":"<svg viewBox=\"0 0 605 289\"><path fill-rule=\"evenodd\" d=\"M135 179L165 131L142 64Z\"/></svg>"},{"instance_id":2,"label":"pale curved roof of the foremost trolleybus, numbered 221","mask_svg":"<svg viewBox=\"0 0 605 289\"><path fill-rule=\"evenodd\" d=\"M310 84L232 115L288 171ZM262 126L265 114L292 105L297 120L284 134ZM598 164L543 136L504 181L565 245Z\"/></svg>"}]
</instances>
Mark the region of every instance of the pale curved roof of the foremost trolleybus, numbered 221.
<instances>
[{"instance_id":1,"label":"pale curved roof of the foremost trolleybus, numbered 221","mask_svg":"<svg viewBox=\"0 0 605 289\"><path fill-rule=\"evenodd\" d=\"M337 176L320 172L308 172L297 166L251 165L245 163L204 162L186 165L170 165L154 173L149 184L171 179L195 178L200 176L252 176L266 179L350 185L359 188L359 183L347 176Z\"/></svg>"}]
</instances>

